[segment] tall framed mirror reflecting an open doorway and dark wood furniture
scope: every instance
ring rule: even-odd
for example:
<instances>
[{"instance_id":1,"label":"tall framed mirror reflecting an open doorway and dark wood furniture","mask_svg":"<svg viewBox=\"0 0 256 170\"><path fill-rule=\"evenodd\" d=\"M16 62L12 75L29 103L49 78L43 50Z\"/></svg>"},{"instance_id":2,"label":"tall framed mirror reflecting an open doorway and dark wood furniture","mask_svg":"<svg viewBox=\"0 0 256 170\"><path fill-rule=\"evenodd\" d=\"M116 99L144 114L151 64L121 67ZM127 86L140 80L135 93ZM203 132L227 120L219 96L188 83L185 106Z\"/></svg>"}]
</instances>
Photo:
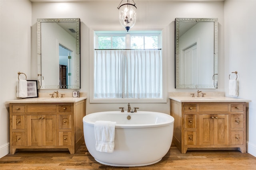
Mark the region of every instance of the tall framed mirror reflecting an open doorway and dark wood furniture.
<instances>
[{"instance_id":1,"label":"tall framed mirror reflecting an open doorway and dark wood furniture","mask_svg":"<svg viewBox=\"0 0 256 170\"><path fill-rule=\"evenodd\" d=\"M80 88L80 19L38 19L40 89Z\"/></svg>"}]
</instances>

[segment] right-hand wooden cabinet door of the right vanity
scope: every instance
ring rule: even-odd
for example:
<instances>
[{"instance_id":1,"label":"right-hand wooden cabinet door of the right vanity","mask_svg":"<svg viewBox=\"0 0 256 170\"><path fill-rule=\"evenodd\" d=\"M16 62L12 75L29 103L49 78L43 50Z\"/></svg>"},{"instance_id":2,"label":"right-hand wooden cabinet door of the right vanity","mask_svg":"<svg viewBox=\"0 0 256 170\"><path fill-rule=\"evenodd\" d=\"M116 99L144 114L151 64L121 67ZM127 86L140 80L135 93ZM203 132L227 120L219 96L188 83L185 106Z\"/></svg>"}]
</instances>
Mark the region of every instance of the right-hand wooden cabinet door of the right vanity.
<instances>
[{"instance_id":1,"label":"right-hand wooden cabinet door of the right vanity","mask_svg":"<svg viewBox=\"0 0 256 170\"><path fill-rule=\"evenodd\" d=\"M228 145L228 115L214 115L214 145Z\"/></svg>"}]
</instances>

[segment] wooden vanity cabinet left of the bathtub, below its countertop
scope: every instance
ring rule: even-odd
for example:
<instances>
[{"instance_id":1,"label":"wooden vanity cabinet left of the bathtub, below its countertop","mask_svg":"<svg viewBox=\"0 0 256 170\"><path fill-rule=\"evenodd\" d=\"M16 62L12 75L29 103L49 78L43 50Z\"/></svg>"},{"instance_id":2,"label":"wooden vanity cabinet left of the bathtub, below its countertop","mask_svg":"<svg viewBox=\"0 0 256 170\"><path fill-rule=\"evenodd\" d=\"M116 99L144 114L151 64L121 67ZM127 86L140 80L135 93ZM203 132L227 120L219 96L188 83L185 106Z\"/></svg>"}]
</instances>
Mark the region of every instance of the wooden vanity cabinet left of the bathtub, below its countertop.
<instances>
[{"instance_id":1,"label":"wooden vanity cabinet left of the bathtub, below its countertop","mask_svg":"<svg viewBox=\"0 0 256 170\"><path fill-rule=\"evenodd\" d=\"M10 154L16 149L68 149L84 142L85 100L75 103L10 103Z\"/></svg>"}]
</instances>

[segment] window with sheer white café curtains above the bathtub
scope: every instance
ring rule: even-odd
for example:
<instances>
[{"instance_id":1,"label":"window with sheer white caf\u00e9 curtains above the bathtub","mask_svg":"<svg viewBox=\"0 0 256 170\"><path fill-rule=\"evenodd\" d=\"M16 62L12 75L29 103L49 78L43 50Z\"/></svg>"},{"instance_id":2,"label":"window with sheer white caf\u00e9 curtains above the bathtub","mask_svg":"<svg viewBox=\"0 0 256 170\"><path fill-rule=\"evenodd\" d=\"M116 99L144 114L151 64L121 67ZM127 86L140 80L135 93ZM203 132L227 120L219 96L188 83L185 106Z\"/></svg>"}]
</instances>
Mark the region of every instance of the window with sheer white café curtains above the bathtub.
<instances>
[{"instance_id":1,"label":"window with sheer white caf\u00e9 curtains above the bathtub","mask_svg":"<svg viewBox=\"0 0 256 170\"><path fill-rule=\"evenodd\" d=\"M94 99L161 99L160 31L95 31Z\"/></svg>"}]
</instances>

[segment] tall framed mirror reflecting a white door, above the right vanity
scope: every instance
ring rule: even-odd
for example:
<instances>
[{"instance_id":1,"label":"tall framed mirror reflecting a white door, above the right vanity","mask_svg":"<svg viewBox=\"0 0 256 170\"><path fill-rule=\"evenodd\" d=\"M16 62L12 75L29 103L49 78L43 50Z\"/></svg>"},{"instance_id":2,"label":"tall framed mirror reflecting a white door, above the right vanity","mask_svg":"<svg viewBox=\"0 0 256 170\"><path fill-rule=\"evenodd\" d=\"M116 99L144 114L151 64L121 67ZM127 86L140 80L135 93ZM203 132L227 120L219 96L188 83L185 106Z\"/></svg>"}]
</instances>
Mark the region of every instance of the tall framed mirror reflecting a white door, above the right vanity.
<instances>
[{"instance_id":1,"label":"tall framed mirror reflecting a white door, above the right vanity","mask_svg":"<svg viewBox=\"0 0 256 170\"><path fill-rule=\"evenodd\" d=\"M217 88L218 19L175 19L175 88Z\"/></svg>"}]
</instances>

